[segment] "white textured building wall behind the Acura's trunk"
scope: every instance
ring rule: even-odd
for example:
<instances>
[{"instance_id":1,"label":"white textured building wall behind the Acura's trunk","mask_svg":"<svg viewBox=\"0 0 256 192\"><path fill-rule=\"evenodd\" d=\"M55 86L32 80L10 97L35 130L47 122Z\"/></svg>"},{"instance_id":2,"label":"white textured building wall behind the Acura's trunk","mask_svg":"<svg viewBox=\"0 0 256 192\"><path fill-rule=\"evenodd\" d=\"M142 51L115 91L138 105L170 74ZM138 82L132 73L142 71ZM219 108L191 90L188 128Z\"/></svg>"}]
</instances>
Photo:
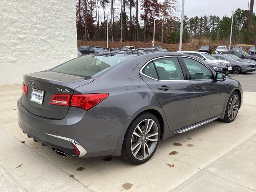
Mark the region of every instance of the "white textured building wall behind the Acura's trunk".
<instances>
[{"instance_id":1,"label":"white textured building wall behind the Acura's trunk","mask_svg":"<svg viewBox=\"0 0 256 192\"><path fill-rule=\"evenodd\" d=\"M76 56L75 0L0 0L0 85Z\"/></svg>"}]
</instances>

